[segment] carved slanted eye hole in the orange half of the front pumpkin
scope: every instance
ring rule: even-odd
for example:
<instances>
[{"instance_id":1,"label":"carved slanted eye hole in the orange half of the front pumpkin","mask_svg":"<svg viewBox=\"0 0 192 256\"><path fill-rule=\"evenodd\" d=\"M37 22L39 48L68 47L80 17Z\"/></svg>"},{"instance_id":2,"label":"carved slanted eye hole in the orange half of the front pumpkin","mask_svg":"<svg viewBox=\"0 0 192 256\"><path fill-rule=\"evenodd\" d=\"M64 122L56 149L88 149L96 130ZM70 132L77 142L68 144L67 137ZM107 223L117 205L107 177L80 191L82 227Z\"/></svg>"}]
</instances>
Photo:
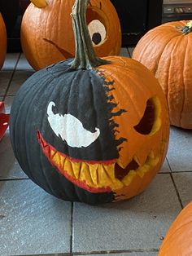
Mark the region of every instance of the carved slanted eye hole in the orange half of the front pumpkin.
<instances>
[{"instance_id":1,"label":"carved slanted eye hole in the orange half of the front pumpkin","mask_svg":"<svg viewBox=\"0 0 192 256\"><path fill-rule=\"evenodd\" d=\"M148 99L146 102L146 109L142 116L142 119L139 121L137 126L134 126L134 129L142 135L150 135L152 130L154 132L159 128L160 125L159 119L159 100L157 98ZM158 129L159 130L159 129ZM154 132L152 132L154 134Z\"/></svg>"}]
</instances>

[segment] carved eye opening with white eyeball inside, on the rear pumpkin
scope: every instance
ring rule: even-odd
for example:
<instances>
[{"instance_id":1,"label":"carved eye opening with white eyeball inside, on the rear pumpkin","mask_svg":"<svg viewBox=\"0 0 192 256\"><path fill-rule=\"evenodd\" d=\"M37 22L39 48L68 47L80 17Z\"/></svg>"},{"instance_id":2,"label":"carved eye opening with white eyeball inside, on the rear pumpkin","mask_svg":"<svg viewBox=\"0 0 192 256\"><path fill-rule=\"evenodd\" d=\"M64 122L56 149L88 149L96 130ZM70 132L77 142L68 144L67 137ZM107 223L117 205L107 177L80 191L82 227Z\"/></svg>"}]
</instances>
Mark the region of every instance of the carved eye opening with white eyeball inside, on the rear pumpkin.
<instances>
[{"instance_id":1,"label":"carved eye opening with white eyeball inside, on the rear pumpkin","mask_svg":"<svg viewBox=\"0 0 192 256\"><path fill-rule=\"evenodd\" d=\"M107 22L101 10L88 8L86 12L90 38L94 46L100 46L107 38Z\"/></svg>"}]
</instances>

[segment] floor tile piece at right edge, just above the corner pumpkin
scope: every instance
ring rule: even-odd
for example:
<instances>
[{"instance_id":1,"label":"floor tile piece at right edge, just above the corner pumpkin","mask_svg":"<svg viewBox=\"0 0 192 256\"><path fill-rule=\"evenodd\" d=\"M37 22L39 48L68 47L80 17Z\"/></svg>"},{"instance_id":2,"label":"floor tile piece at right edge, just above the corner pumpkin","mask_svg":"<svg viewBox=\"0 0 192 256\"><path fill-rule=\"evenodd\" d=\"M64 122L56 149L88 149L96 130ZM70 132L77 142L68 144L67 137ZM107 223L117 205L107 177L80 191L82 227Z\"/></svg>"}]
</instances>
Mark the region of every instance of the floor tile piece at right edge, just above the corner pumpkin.
<instances>
[{"instance_id":1,"label":"floor tile piece at right edge, just above the corner pumpkin","mask_svg":"<svg viewBox=\"0 0 192 256\"><path fill-rule=\"evenodd\" d=\"M192 201L192 172L175 173L172 174L172 176L176 183L182 204L185 206Z\"/></svg>"}]
</instances>

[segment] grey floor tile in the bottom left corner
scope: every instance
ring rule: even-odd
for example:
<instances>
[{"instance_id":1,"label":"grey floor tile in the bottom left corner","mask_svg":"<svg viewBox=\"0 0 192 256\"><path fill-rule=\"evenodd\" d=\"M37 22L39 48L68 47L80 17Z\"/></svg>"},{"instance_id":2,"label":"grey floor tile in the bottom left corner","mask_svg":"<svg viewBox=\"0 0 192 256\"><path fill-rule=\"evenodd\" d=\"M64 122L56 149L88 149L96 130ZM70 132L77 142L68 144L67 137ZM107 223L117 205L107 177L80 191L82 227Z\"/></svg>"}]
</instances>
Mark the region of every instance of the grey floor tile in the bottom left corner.
<instances>
[{"instance_id":1,"label":"grey floor tile in the bottom left corner","mask_svg":"<svg viewBox=\"0 0 192 256\"><path fill-rule=\"evenodd\" d=\"M0 182L0 255L70 251L71 203L31 180Z\"/></svg>"}]
</instances>

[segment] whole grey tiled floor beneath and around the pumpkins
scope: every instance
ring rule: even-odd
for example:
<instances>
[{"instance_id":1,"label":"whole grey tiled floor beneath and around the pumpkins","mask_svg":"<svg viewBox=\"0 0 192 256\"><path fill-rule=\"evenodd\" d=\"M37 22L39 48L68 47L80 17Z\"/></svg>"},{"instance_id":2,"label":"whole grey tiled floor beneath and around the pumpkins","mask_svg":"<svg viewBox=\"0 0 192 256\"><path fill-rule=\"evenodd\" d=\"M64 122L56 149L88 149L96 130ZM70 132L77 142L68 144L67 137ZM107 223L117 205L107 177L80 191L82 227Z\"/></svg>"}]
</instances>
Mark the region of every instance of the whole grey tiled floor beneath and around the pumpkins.
<instances>
[{"instance_id":1,"label":"whole grey tiled floor beneath and around the pumpkins","mask_svg":"<svg viewBox=\"0 0 192 256\"><path fill-rule=\"evenodd\" d=\"M131 48L121 55L130 56ZM10 112L33 74L24 55L7 54L0 99ZM192 130L171 128L164 166L140 196L90 206L56 199L20 169L9 130L0 142L0 255L157 255L168 227L192 199ZM174 255L170 255L174 256Z\"/></svg>"}]
</instances>

